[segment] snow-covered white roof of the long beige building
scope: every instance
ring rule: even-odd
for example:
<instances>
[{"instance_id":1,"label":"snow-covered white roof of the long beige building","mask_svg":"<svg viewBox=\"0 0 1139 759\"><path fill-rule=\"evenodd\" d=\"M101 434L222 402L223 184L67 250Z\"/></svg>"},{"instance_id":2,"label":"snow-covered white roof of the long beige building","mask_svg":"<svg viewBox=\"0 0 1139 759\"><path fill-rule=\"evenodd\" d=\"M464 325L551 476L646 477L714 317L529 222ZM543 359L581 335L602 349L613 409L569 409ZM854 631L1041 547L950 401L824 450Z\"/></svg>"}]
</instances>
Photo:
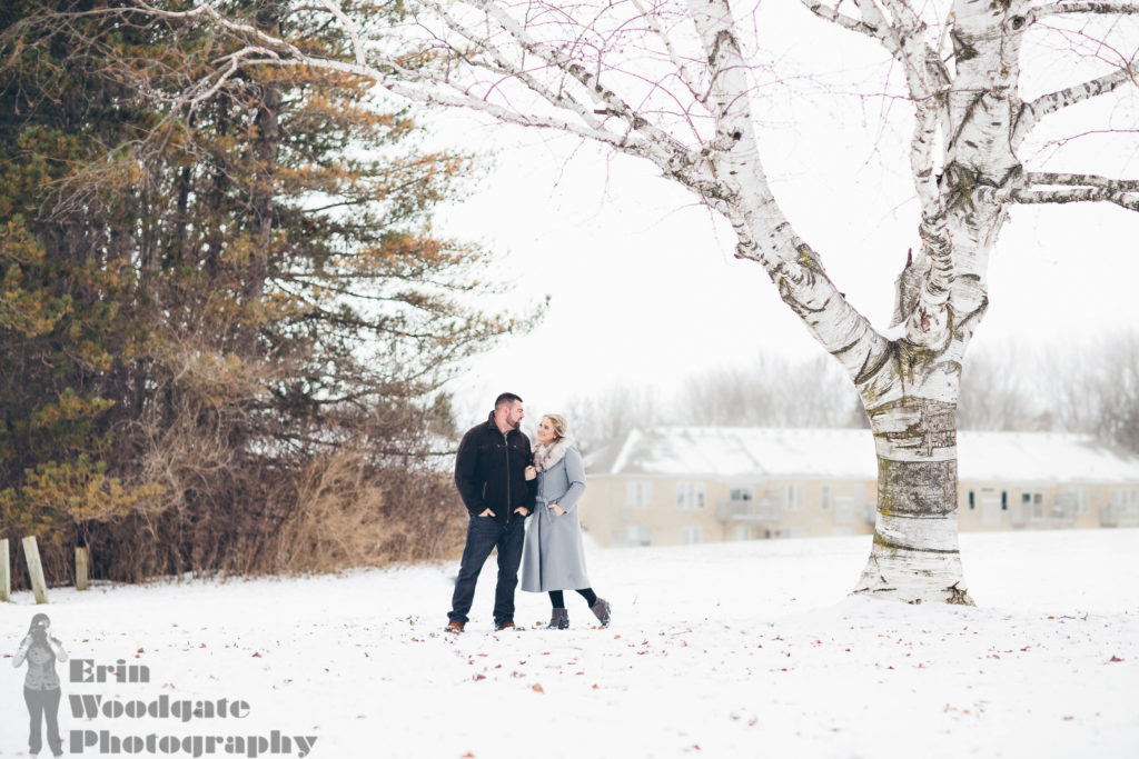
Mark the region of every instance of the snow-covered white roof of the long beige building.
<instances>
[{"instance_id":1,"label":"snow-covered white roof of the long beige building","mask_svg":"<svg viewBox=\"0 0 1139 759\"><path fill-rule=\"evenodd\" d=\"M1088 435L959 431L969 481L1139 482L1139 456ZM591 475L755 479L877 479L866 429L648 427L597 452Z\"/></svg>"}]
</instances>

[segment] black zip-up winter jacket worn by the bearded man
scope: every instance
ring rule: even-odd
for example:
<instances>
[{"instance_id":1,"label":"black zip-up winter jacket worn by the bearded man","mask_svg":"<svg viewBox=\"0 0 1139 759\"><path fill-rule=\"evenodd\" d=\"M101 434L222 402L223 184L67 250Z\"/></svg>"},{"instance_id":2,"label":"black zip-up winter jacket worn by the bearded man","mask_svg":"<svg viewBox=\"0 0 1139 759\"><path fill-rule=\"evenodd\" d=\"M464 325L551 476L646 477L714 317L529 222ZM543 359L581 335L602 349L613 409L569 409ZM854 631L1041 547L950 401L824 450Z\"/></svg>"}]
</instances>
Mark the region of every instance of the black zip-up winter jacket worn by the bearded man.
<instances>
[{"instance_id":1,"label":"black zip-up winter jacket worn by the bearded man","mask_svg":"<svg viewBox=\"0 0 1139 759\"><path fill-rule=\"evenodd\" d=\"M526 481L530 463L530 438L518 430L503 435L493 412L467 430L454 459L454 484L470 515L490 509L505 523L521 515L514 513L519 506L533 510L536 480Z\"/></svg>"}]
</instances>

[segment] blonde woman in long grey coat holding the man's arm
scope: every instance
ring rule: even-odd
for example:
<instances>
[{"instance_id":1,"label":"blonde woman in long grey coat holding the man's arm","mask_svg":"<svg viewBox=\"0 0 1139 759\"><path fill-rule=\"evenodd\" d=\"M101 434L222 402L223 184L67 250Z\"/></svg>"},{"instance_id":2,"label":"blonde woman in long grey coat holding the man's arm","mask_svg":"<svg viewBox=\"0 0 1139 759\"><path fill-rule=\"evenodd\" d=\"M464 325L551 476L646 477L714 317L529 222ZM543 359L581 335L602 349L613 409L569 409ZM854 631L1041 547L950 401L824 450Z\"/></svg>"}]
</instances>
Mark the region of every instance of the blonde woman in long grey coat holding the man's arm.
<instances>
[{"instance_id":1,"label":"blonde woman in long grey coat holding the man's arm","mask_svg":"<svg viewBox=\"0 0 1139 759\"><path fill-rule=\"evenodd\" d=\"M538 423L534 464L526 468L526 479L538 478L538 497L522 552L522 589L550 594L554 612L547 629L570 627L562 594L567 588L577 591L601 627L608 627L609 602L597 597L585 576L577 521L577 501L585 492L585 467L566 437L567 427L559 414L547 414Z\"/></svg>"}]
</instances>

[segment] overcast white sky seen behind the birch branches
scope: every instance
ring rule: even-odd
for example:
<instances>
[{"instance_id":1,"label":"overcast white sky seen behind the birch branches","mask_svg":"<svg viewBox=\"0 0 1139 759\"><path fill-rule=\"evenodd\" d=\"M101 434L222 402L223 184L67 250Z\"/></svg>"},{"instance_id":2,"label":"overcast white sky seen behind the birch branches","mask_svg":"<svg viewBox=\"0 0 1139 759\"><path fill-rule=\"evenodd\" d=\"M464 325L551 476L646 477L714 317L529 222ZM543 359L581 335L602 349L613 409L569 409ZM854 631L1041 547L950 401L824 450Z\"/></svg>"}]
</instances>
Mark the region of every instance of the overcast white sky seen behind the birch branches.
<instances>
[{"instance_id":1,"label":"overcast white sky seen behind the birch branches","mask_svg":"<svg viewBox=\"0 0 1139 759\"><path fill-rule=\"evenodd\" d=\"M825 27L808 28L816 46L827 44ZM853 50L869 57L846 50L834 71L882 76L871 46ZM771 102L778 116L765 119L761 140L776 195L838 288L884 329L894 277L916 244L909 127L880 126L883 99L836 100L812 88L803 97L776 92ZM1106 117L1130 118L1133 129L1133 106L1134 98ZM495 251L494 275L515 284L503 303L524 308L551 296L533 332L470 361L451 383L460 424L482 418L502 390L522 395L536 418L612 386L672 389L759 352L820 355L759 264L732 257L730 229L647 162L465 115L449 116L442 131L498 159L436 228ZM1136 145L1134 134L1084 140L1075 146L1087 158L1080 166L1060 158L1047 167L1136 176ZM1100 327L1139 324L1137 240L1139 214L1117 207L1015 208L991 263L991 305L975 347L1056 348L1085 343Z\"/></svg>"}]
</instances>

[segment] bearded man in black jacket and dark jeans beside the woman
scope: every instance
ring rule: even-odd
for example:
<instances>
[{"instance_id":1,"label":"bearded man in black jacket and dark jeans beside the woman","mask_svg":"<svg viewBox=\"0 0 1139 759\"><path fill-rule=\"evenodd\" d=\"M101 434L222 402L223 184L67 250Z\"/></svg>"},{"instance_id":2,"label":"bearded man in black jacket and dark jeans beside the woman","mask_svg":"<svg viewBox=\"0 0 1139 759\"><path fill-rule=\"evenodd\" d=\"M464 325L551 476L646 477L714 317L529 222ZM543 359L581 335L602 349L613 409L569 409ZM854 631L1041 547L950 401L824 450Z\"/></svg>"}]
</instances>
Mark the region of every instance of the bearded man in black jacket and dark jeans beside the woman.
<instances>
[{"instance_id":1,"label":"bearded man in black jacket and dark jeans beside the woman","mask_svg":"<svg viewBox=\"0 0 1139 759\"><path fill-rule=\"evenodd\" d=\"M514 627L514 589L522 562L524 522L534 503L535 482L526 479L530 438L518 430L522 398L503 393L486 422L467 430L454 459L454 484L470 512L467 545L451 597L446 630L461 633L475 599L475 583L492 548L499 552L494 589L494 629Z\"/></svg>"}]
</instances>

